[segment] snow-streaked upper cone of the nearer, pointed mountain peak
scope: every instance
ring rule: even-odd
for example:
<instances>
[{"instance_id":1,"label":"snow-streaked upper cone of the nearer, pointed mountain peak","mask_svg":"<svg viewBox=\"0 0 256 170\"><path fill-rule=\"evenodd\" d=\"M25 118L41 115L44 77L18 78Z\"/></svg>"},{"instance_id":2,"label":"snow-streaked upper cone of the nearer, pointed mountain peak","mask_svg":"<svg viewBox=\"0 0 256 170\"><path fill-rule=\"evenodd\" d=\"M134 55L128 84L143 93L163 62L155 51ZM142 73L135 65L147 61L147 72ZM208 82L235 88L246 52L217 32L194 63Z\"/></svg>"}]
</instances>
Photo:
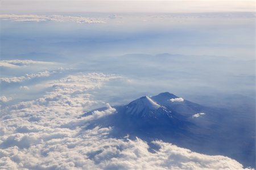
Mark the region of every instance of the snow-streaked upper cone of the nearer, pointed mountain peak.
<instances>
[{"instance_id":1,"label":"snow-streaked upper cone of the nearer, pointed mountain peak","mask_svg":"<svg viewBox=\"0 0 256 170\"><path fill-rule=\"evenodd\" d=\"M156 103L152 98L144 96L126 105L125 113L139 117L158 117L162 114L171 113L171 111Z\"/></svg>"}]
</instances>

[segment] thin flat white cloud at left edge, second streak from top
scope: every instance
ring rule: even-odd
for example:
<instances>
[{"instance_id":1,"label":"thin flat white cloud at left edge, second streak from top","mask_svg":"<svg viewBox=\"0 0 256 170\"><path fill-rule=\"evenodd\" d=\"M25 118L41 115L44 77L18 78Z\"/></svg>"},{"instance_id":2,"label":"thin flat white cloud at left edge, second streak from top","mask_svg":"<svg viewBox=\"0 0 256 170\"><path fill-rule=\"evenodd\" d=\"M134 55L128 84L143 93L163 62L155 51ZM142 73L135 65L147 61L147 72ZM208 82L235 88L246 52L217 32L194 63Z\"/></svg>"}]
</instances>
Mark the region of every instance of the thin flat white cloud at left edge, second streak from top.
<instances>
[{"instance_id":1,"label":"thin flat white cloud at left edge, second streak from top","mask_svg":"<svg viewBox=\"0 0 256 170\"><path fill-rule=\"evenodd\" d=\"M46 61L35 61L35 60L0 60L0 67L7 68L20 68L32 64L53 64L52 62Z\"/></svg>"}]
</instances>

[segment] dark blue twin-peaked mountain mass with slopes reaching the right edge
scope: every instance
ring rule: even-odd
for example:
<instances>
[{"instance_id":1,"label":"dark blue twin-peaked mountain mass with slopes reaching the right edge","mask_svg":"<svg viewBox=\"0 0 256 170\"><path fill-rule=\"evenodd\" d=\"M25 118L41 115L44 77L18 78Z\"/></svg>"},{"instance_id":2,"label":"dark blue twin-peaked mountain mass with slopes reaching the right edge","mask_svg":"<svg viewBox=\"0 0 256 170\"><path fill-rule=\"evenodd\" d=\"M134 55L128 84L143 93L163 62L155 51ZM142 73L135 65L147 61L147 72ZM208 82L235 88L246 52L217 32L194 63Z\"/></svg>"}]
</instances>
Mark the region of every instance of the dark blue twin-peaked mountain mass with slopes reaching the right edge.
<instances>
[{"instance_id":1,"label":"dark blue twin-peaked mountain mass with slopes reaching the right edge","mask_svg":"<svg viewBox=\"0 0 256 170\"><path fill-rule=\"evenodd\" d=\"M90 126L111 126L112 137L138 136L152 148L152 140L163 140L203 154L229 156L255 167L255 130L241 122L236 126L238 117L232 115L232 110L201 106L168 92L113 108L114 114L97 119ZM96 110L105 109L108 108Z\"/></svg>"}]
</instances>

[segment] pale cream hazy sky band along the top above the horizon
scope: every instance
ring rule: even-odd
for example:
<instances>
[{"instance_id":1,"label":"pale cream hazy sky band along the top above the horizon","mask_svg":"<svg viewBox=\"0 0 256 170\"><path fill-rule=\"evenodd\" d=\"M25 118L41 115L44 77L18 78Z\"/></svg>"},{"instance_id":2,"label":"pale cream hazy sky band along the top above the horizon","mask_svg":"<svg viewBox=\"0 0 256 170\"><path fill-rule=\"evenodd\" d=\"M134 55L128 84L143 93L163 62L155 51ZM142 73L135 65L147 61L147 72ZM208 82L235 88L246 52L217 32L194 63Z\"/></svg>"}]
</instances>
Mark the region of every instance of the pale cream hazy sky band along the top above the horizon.
<instances>
[{"instance_id":1,"label":"pale cream hazy sky band along the top above the horizon","mask_svg":"<svg viewBox=\"0 0 256 170\"><path fill-rule=\"evenodd\" d=\"M255 1L1 1L1 13L253 12Z\"/></svg>"}]
</instances>

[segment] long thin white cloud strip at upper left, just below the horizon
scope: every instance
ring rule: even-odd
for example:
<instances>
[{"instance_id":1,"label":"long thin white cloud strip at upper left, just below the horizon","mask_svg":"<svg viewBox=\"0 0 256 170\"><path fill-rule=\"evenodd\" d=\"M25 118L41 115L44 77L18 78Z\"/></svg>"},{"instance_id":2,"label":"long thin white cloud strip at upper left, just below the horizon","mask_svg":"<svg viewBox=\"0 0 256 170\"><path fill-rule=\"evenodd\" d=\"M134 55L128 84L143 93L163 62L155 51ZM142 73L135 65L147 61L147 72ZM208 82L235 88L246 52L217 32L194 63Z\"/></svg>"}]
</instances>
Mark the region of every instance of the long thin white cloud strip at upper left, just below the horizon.
<instances>
[{"instance_id":1,"label":"long thin white cloud strip at upper left, just below the horizon","mask_svg":"<svg viewBox=\"0 0 256 170\"><path fill-rule=\"evenodd\" d=\"M104 23L97 18L85 18L82 16L63 16L63 15L15 15L2 14L1 19L13 20L16 22L76 22L76 23Z\"/></svg>"}]
</instances>

